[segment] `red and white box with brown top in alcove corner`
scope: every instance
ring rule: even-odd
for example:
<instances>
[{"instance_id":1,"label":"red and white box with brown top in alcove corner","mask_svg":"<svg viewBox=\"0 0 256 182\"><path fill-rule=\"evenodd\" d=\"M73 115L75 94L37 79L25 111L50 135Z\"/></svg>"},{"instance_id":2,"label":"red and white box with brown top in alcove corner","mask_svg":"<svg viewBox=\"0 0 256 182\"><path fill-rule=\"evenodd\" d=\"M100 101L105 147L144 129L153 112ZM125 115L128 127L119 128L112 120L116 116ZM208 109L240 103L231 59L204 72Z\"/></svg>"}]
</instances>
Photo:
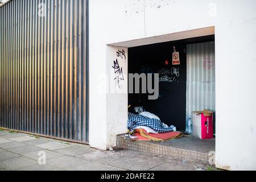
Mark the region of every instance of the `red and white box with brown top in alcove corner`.
<instances>
[{"instance_id":1,"label":"red and white box with brown top in alcove corner","mask_svg":"<svg viewBox=\"0 0 256 182\"><path fill-rule=\"evenodd\" d=\"M209 110L192 112L193 136L201 139L213 138L213 112Z\"/></svg>"}]
</instances>

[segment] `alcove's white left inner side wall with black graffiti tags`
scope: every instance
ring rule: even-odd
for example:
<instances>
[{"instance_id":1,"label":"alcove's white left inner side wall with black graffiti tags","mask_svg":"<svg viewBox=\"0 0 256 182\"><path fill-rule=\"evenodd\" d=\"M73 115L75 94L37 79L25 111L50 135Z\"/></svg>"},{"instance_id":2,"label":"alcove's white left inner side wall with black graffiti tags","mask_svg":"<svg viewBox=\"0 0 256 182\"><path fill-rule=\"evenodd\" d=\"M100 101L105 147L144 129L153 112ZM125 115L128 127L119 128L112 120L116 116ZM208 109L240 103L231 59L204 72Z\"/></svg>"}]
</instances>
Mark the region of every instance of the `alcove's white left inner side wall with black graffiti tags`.
<instances>
[{"instance_id":1,"label":"alcove's white left inner side wall with black graffiti tags","mask_svg":"<svg viewBox=\"0 0 256 182\"><path fill-rule=\"evenodd\" d=\"M127 133L128 119L128 54L127 48L107 47L106 72L108 75L108 86L106 94L106 147L115 147L117 135ZM125 55L117 55L118 51L125 51ZM114 63L115 61L115 63ZM118 62L116 62L118 61ZM119 84L118 84L119 78Z\"/></svg>"}]
</instances>

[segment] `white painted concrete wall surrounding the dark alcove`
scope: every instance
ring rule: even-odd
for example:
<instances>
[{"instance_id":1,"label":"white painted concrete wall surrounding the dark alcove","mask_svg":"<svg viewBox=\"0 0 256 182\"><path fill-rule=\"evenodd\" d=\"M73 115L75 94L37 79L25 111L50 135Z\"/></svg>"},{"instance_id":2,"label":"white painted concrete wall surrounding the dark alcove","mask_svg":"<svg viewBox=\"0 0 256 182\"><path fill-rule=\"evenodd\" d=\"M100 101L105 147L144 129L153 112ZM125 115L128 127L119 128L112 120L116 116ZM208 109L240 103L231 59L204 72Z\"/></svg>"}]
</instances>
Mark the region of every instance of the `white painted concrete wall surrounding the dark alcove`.
<instances>
[{"instance_id":1,"label":"white painted concrete wall surrounding the dark alcove","mask_svg":"<svg viewBox=\"0 0 256 182\"><path fill-rule=\"evenodd\" d=\"M114 103L122 105L119 109L112 103L113 94L98 92L102 83L99 75L112 69L108 52L113 50L108 51L107 44L136 39L143 42L148 37L158 42L159 35L214 26L217 167L256 169L255 7L254 0L89 1L90 145L114 147L115 134L122 133L126 126L126 118L121 119L127 113L126 94L115 94ZM114 130L118 132L110 132Z\"/></svg>"}]
</instances>

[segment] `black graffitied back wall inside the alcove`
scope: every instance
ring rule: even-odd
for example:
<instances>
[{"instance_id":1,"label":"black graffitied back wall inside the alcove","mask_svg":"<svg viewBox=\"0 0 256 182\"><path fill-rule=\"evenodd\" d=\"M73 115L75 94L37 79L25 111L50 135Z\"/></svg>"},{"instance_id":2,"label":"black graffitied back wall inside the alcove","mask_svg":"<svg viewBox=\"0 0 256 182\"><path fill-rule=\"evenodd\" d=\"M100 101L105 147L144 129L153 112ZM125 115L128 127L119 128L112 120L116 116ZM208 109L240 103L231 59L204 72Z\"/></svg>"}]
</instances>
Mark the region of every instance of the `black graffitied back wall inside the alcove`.
<instances>
[{"instance_id":1,"label":"black graffitied back wall inside the alcove","mask_svg":"<svg viewBox=\"0 0 256 182\"><path fill-rule=\"evenodd\" d=\"M158 115L167 125L185 130L187 44L213 40L214 35L129 48L129 73L160 73L159 77L162 77L163 71L169 71L168 77L174 80L159 82L158 100L148 100L148 94L129 94L129 111L134 113L134 106L143 106L143 109ZM172 65L173 46L180 53L180 65ZM171 74L174 70L178 72Z\"/></svg>"}]
</instances>

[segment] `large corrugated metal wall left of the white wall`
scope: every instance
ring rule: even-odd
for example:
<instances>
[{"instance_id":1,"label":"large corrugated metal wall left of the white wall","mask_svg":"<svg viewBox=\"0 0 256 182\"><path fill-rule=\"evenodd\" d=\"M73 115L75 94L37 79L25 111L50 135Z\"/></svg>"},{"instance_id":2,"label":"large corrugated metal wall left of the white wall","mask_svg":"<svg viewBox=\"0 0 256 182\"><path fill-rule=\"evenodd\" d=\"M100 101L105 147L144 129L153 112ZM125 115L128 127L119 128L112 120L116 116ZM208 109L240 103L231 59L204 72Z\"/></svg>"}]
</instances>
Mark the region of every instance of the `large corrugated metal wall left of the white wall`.
<instances>
[{"instance_id":1,"label":"large corrugated metal wall left of the white wall","mask_svg":"<svg viewBox=\"0 0 256 182\"><path fill-rule=\"evenodd\" d=\"M0 127L88 142L86 5L13 0L0 7Z\"/></svg>"}]
</instances>

